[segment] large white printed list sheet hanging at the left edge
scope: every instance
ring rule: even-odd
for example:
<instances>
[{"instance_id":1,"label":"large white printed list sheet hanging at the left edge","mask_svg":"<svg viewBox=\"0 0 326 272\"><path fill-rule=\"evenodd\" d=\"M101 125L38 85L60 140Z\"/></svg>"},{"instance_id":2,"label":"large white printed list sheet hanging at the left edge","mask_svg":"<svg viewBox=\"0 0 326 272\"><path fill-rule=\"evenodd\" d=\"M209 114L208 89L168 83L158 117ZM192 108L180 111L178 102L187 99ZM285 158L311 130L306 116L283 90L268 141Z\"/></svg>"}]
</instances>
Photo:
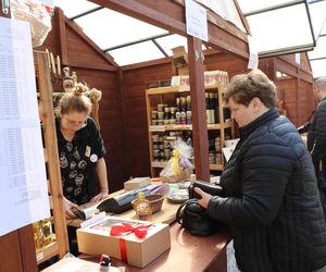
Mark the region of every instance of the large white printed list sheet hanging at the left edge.
<instances>
[{"instance_id":1,"label":"large white printed list sheet hanging at the left edge","mask_svg":"<svg viewBox=\"0 0 326 272\"><path fill-rule=\"evenodd\" d=\"M0 17L0 235L49 218L30 27Z\"/></svg>"}]
</instances>

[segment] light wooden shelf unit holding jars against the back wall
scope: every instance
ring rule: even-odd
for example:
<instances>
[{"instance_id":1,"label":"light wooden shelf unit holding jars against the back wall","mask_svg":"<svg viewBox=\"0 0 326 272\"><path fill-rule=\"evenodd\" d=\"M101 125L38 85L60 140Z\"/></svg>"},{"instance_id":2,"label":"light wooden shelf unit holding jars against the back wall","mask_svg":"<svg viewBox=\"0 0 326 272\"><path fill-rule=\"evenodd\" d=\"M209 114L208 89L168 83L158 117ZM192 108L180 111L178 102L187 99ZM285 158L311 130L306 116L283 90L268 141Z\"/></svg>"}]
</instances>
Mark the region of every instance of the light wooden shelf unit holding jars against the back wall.
<instances>
[{"instance_id":1,"label":"light wooden shelf unit holding jars against the back wall","mask_svg":"<svg viewBox=\"0 0 326 272\"><path fill-rule=\"evenodd\" d=\"M227 107L223 103L223 84L217 83L214 85L205 86L205 92L216 92L217 94L217 122L214 124L208 124L209 138L210 134L220 137L221 139L221 152L222 147L224 147L226 134L230 138L234 137L234 123L230 119L225 120L225 109ZM159 159L154 156L154 145L153 137L154 135L164 135L170 132L192 132L191 124L160 124L152 125L152 111L156 111L159 103L167 104L168 107L176 107L176 98L189 96L190 89L188 86L183 87L158 87L150 88L146 90L146 103L147 103L147 119L148 119L148 133L149 133L149 150L150 150L150 164L151 164L151 175L158 176L159 171L161 171L167 163L168 159ZM168 138L170 136L167 136ZM161 149L162 150L162 149ZM220 152L220 151L218 151ZM155 158L155 160L154 160ZM224 156L221 158L221 163L210 163L211 171L223 171L225 166Z\"/></svg>"}]
</instances>

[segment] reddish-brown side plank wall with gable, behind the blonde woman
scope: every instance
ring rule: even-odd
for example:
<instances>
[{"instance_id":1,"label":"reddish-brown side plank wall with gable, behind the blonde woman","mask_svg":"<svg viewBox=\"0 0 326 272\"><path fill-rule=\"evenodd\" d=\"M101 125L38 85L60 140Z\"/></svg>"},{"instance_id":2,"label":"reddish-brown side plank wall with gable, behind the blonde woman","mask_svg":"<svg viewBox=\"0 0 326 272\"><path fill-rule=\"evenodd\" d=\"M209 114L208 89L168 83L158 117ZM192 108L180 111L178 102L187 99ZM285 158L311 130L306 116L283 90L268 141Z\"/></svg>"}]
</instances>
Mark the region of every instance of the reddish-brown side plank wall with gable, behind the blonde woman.
<instances>
[{"instance_id":1,"label":"reddish-brown side plank wall with gable, behind the blonde woman","mask_svg":"<svg viewBox=\"0 0 326 272\"><path fill-rule=\"evenodd\" d=\"M77 73L78 82L102 91L99 120L108 151L105 162L110 191L121 189L127 175L120 67L109 63L93 42L75 24L68 22L64 16L60 16L60 10L53 17L52 30L43 45L37 48L41 51L46 49L53 52L54 57L59 54L63 62L71 67L71 71ZM65 60L62 54L65 54Z\"/></svg>"}]
</instances>

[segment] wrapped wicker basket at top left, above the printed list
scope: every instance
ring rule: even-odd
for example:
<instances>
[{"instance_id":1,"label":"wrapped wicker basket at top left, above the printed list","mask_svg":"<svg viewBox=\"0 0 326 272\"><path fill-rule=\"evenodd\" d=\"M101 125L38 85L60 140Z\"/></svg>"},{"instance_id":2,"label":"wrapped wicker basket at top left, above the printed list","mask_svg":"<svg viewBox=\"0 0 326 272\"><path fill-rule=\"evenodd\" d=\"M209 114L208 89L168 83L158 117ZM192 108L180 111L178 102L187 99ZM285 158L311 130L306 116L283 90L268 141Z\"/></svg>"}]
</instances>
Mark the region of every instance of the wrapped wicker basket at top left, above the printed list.
<instances>
[{"instance_id":1,"label":"wrapped wicker basket at top left, above the printed list","mask_svg":"<svg viewBox=\"0 0 326 272\"><path fill-rule=\"evenodd\" d=\"M11 0L11 16L30 24L33 47L41 46L51 30L51 10L32 0Z\"/></svg>"}]
</instances>

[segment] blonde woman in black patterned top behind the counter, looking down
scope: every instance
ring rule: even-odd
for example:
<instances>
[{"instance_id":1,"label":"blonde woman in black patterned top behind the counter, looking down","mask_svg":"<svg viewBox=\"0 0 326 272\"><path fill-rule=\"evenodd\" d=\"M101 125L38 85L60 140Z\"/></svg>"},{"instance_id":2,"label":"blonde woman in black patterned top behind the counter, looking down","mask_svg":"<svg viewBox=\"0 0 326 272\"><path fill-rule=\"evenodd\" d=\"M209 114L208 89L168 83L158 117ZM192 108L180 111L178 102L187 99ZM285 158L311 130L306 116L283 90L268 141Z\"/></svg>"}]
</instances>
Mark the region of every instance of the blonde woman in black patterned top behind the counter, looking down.
<instances>
[{"instance_id":1,"label":"blonde woman in black patterned top behind the counter, looking down","mask_svg":"<svg viewBox=\"0 0 326 272\"><path fill-rule=\"evenodd\" d=\"M85 90L77 85L65 92L55 120L67 219L76 217L73 210L79 205L102 200L109 194L105 148L97 124L89 118L91 102Z\"/></svg>"}]
</instances>

